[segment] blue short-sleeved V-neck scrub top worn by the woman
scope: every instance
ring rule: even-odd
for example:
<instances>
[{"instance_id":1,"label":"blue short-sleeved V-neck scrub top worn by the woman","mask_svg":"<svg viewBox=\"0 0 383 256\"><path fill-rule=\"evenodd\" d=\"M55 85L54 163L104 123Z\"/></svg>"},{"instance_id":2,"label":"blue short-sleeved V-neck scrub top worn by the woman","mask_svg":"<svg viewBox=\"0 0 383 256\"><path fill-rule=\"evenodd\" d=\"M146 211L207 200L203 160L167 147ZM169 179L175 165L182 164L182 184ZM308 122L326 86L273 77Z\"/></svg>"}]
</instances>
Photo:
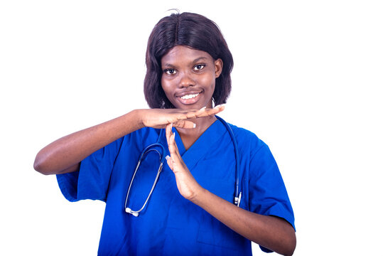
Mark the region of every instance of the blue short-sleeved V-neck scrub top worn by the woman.
<instances>
[{"instance_id":1,"label":"blue short-sleeved V-neck scrub top worn by the woman","mask_svg":"<svg viewBox=\"0 0 383 256\"><path fill-rule=\"evenodd\" d=\"M252 132L230 126L237 139L242 169L240 207L279 216L294 227L293 209L269 147ZM107 203L99 255L252 255L249 240L180 196L166 161L139 217L125 213L126 192L139 156L146 146L157 142L159 134L160 129L139 129L88 156L81 162L80 171L57 176L69 201L93 199ZM165 132L159 141L168 155ZM188 151L177 132L176 143L196 181L233 202L236 161L224 124L217 120ZM143 206L158 166L158 154L151 151L142 161L129 194L128 207L132 210Z\"/></svg>"}]
</instances>

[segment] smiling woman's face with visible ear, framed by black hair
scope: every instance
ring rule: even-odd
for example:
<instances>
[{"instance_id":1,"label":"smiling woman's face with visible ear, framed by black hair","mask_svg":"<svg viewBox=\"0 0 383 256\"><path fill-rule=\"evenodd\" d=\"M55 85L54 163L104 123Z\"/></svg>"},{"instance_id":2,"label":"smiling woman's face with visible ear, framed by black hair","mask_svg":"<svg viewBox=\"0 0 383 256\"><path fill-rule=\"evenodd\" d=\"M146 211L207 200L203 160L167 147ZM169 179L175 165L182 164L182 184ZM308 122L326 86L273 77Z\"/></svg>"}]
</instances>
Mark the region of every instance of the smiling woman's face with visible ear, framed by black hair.
<instances>
[{"instance_id":1,"label":"smiling woman's face with visible ear, framed by black hair","mask_svg":"<svg viewBox=\"0 0 383 256\"><path fill-rule=\"evenodd\" d=\"M175 46L161 59L161 85L168 100L179 109L212 107L215 78L222 60L186 46Z\"/></svg>"}]
</instances>

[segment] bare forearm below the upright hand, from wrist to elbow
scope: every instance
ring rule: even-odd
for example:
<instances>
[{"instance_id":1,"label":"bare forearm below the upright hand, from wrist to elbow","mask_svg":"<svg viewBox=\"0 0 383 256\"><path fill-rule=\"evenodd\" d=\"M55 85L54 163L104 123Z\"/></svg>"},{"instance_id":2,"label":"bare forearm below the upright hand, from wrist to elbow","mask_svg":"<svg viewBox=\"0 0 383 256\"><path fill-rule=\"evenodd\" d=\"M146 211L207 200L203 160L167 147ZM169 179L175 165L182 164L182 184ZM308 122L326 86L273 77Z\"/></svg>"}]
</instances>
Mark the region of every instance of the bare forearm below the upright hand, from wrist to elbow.
<instances>
[{"instance_id":1,"label":"bare forearm below the upright hand, from wrist to elbow","mask_svg":"<svg viewBox=\"0 0 383 256\"><path fill-rule=\"evenodd\" d=\"M258 245L281 255L293 254L296 236L286 220L244 210L205 189L201 189L191 201L227 227Z\"/></svg>"}]
</instances>

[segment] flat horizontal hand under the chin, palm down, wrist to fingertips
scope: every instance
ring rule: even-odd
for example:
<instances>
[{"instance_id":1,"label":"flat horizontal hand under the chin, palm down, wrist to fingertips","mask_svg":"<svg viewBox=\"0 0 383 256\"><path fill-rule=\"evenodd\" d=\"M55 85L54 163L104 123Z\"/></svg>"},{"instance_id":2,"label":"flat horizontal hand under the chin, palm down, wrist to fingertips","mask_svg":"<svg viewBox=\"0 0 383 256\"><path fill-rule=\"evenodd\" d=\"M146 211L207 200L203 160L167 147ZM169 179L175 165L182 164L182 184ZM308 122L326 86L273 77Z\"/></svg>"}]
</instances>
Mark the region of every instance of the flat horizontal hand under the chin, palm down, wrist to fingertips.
<instances>
[{"instance_id":1,"label":"flat horizontal hand under the chin, palm down, wrist to fingertips","mask_svg":"<svg viewBox=\"0 0 383 256\"><path fill-rule=\"evenodd\" d=\"M136 111L139 113L139 122L143 127L163 129L166 124L173 123L173 127L192 129L195 128L193 119L211 117L224 109L224 105L218 105L212 109L202 108L200 110L149 109Z\"/></svg>"}]
</instances>

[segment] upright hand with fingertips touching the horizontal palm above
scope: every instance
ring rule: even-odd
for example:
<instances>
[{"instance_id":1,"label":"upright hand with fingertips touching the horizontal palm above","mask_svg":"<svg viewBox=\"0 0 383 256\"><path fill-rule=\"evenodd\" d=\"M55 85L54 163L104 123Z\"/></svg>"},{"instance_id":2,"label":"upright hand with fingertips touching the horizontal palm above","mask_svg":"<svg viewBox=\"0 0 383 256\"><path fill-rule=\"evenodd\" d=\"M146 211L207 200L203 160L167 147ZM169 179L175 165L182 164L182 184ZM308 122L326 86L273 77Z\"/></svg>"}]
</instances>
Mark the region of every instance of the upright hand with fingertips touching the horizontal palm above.
<instances>
[{"instance_id":1,"label":"upright hand with fingertips touching the horizontal palm above","mask_svg":"<svg viewBox=\"0 0 383 256\"><path fill-rule=\"evenodd\" d=\"M166 160L168 161L168 166L176 176L178 191L180 191L180 194L184 198L193 201L193 198L200 191L203 191L203 188L197 181L195 181L193 175L190 174L188 166L186 166L180 156L176 140L174 139L175 136L176 134L172 132L172 124L166 125L166 139L168 141L169 152L171 154L170 157L166 156Z\"/></svg>"}]
</instances>

